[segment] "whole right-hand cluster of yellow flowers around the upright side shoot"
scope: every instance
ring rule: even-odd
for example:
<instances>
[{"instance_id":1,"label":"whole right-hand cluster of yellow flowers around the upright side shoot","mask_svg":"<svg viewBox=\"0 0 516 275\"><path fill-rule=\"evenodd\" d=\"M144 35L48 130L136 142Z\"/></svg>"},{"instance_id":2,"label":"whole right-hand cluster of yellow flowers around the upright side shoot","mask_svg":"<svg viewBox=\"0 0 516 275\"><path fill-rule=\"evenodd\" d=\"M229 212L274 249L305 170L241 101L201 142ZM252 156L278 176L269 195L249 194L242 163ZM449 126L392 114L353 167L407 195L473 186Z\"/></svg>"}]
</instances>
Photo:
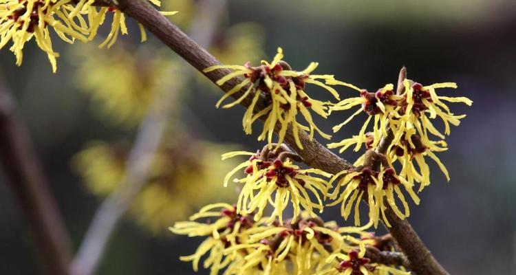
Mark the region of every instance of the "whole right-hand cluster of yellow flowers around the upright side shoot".
<instances>
[{"instance_id":1,"label":"whole right-hand cluster of yellow flowers around the upright side shoot","mask_svg":"<svg viewBox=\"0 0 516 275\"><path fill-rule=\"evenodd\" d=\"M334 131L341 129L359 113L368 115L358 135L328 144L328 147L340 147L340 151L343 152L350 146L354 146L354 151L358 151L362 144L365 144L368 150L366 155L369 154L369 157L364 155L356 162L358 167L343 170L332 178L330 186L337 179L338 184L329 195L330 199L334 199L330 205L341 203L341 214L347 219L353 203L356 202L354 210L357 225L360 224L358 206L363 198L369 204L369 218L374 221L375 227L380 217L387 226L390 226L384 214L387 206L400 219L405 219L410 212L400 186L416 204L419 203L418 196L413 191L414 184L419 184L418 192L430 184L430 170L425 157L433 159L449 180L446 167L435 154L435 152L446 151L447 143L444 141L444 135L433 125L432 120L441 118L444 122L444 133L449 135L450 124L457 126L460 124L460 119L466 115L454 115L444 102L462 102L471 105L471 100L436 94L435 90L438 88L456 88L455 83L423 86L408 79L401 79L397 93L394 91L394 85L391 84L378 89L376 93L369 93L367 90L336 80L327 80L327 83L352 87L359 93L356 98L347 98L330 107L330 111L342 111L359 106L350 118L335 126ZM372 119L374 119L372 131L368 131L369 122ZM434 137L431 135L438 140L432 140ZM389 138L392 142L383 149L387 153L385 155L375 153L380 141ZM373 155L376 159L382 159L381 166L365 164L365 160ZM396 173L394 168L396 162L401 166L400 173ZM341 188L343 188L342 192ZM404 211L396 205L395 197L400 200Z\"/></svg>"}]
</instances>

